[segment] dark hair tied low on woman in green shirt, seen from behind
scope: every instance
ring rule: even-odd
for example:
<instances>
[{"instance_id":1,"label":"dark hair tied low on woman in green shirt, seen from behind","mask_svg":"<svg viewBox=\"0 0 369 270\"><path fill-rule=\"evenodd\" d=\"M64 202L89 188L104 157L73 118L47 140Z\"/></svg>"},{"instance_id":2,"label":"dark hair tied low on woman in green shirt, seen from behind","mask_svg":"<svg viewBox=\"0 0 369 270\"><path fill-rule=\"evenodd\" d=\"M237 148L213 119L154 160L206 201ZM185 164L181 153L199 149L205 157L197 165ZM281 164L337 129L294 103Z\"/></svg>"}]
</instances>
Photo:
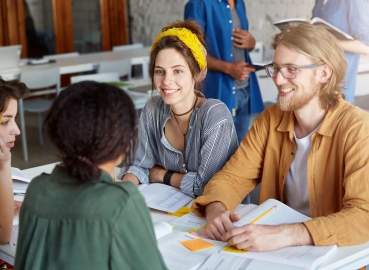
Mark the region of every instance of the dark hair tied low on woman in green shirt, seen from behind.
<instances>
[{"instance_id":1,"label":"dark hair tied low on woman in green shirt, seen from behind","mask_svg":"<svg viewBox=\"0 0 369 270\"><path fill-rule=\"evenodd\" d=\"M136 110L116 86L83 81L60 92L45 120L44 131L58 148L69 175L95 182L99 165L123 156L128 168L137 145Z\"/></svg>"}]
</instances>

